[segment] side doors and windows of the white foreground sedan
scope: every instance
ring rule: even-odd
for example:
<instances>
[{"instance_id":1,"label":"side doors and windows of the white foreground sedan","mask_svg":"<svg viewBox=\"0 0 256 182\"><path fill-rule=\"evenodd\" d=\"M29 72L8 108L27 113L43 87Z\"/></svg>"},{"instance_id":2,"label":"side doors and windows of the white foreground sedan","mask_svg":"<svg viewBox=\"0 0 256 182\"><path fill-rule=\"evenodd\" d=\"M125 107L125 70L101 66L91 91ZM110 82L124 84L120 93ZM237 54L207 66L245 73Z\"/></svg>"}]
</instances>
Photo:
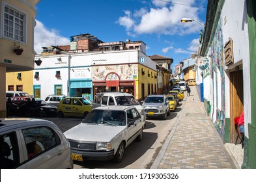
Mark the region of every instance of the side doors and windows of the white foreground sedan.
<instances>
[{"instance_id":1,"label":"side doors and windows of the white foreground sedan","mask_svg":"<svg viewBox=\"0 0 256 182\"><path fill-rule=\"evenodd\" d=\"M127 122L128 122L128 135L129 138L127 143L130 144L136 137L139 135L139 131L142 128L141 115L137 112L136 109L129 109L126 111ZM129 122L133 122L132 125L129 125Z\"/></svg>"}]
</instances>

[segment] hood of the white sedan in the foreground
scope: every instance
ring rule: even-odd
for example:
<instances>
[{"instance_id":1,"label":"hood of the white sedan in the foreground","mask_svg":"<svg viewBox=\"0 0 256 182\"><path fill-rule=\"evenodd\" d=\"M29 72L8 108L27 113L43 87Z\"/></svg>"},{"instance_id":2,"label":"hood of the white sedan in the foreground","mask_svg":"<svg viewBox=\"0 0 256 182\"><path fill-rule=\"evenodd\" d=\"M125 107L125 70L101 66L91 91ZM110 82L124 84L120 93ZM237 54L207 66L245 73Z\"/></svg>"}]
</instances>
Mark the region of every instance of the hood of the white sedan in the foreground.
<instances>
[{"instance_id":1,"label":"hood of the white sedan in the foreground","mask_svg":"<svg viewBox=\"0 0 256 182\"><path fill-rule=\"evenodd\" d=\"M80 123L64 132L66 138L77 141L109 142L126 126Z\"/></svg>"}]
</instances>

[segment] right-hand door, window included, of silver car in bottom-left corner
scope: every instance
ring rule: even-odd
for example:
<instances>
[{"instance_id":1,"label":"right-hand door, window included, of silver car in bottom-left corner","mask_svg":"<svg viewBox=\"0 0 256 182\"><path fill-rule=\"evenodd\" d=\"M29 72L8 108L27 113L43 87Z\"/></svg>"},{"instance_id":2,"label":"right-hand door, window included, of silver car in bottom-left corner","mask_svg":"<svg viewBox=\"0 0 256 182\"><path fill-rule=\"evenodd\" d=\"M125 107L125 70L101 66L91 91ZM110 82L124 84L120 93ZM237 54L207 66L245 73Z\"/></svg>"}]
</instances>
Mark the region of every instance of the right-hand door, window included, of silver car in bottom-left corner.
<instances>
[{"instance_id":1,"label":"right-hand door, window included, of silver car in bottom-left corner","mask_svg":"<svg viewBox=\"0 0 256 182\"><path fill-rule=\"evenodd\" d=\"M19 168L66 168L70 155L59 136L51 127L35 126L20 131L24 161Z\"/></svg>"}]
</instances>

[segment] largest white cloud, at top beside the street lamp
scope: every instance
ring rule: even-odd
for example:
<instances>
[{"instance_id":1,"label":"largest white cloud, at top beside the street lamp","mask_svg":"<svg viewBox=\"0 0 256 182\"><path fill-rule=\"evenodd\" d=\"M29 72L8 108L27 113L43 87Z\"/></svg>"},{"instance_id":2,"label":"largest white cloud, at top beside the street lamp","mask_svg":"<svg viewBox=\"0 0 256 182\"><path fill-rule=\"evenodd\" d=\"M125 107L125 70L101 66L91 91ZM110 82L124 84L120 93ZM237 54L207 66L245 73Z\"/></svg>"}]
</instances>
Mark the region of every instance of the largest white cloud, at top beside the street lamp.
<instances>
[{"instance_id":1,"label":"largest white cloud, at top beside the street lamp","mask_svg":"<svg viewBox=\"0 0 256 182\"><path fill-rule=\"evenodd\" d=\"M180 19L193 18L200 21L199 8L192 6L194 4L195 0L184 0L179 3L152 0L154 8L148 11L147 8L141 8L135 10L133 15L130 11L129 14L125 12L117 23L124 26L130 34L190 34L198 32L201 25L196 22L181 23Z\"/></svg>"}]
</instances>

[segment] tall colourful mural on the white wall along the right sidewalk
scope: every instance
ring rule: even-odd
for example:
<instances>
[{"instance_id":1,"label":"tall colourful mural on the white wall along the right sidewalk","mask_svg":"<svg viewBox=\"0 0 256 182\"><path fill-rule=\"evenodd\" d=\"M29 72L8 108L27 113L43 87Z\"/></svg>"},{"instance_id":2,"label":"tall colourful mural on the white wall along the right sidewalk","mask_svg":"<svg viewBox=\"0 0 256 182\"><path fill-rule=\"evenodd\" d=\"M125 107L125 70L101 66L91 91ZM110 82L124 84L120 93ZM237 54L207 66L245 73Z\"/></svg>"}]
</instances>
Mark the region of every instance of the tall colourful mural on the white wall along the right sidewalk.
<instances>
[{"instance_id":1,"label":"tall colourful mural on the white wall along the right sidewalk","mask_svg":"<svg viewBox=\"0 0 256 182\"><path fill-rule=\"evenodd\" d=\"M215 85L216 90L213 90L216 95L213 97L216 101L212 101L213 104L213 112L212 114L216 114L216 121L214 121L214 125L220 134L221 137L225 135L225 59L223 58L223 32L222 32L222 19L220 18L218 25L216 27L216 32L214 34L214 39L212 41L212 45L210 47L210 56L211 59L211 68L212 71L212 85ZM220 72L218 72L218 70ZM214 74L215 73L215 78ZM220 77L220 83L218 83L218 78ZM218 88L221 88L221 93L218 92ZM214 88L214 86L213 86ZM218 109L218 103L221 102L221 109ZM214 105L216 103L216 105Z\"/></svg>"}]
</instances>

